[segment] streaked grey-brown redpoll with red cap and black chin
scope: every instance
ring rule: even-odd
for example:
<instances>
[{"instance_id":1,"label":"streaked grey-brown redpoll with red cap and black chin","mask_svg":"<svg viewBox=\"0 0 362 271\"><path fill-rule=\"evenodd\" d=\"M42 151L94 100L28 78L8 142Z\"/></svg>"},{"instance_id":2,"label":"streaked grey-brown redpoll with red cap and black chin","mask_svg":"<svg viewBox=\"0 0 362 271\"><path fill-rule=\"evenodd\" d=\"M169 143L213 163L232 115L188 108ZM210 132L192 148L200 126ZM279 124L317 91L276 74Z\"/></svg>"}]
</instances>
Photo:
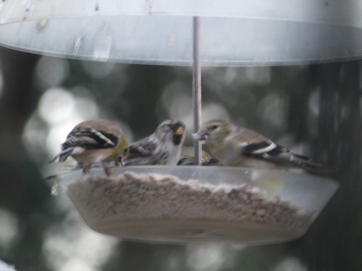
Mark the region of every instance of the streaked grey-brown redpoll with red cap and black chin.
<instances>
[{"instance_id":1,"label":"streaked grey-brown redpoll with red cap and black chin","mask_svg":"<svg viewBox=\"0 0 362 271\"><path fill-rule=\"evenodd\" d=\"M125 165L176 165L185 140L185 124L165 120L155 132L130 144Z\"/></svg>"}]
</instances>

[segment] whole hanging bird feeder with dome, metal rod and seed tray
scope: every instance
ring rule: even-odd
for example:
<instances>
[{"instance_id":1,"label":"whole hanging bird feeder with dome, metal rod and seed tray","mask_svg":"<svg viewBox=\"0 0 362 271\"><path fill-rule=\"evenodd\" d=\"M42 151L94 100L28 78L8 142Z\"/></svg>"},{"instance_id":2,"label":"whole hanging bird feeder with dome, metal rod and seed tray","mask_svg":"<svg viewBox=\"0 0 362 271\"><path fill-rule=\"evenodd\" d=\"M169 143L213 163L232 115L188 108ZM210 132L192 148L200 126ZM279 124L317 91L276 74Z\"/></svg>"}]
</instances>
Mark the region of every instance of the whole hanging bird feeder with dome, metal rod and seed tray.
<instances>
[{"instance_id":1,"label":"whole hanging bird feeder with dome, metal rod and seed tray","mask_svg":"<svg viewBox=\"0 0 362 271\"><path fill-rule=\"evenodd\" d=\"M193 65L325 63L362 57L362 1L13 0L0 3L0 45L42 55ZM238 167L118 167L60 174L94 231L131 240L276 243L298 238L338 188L325 177Z\"/></svg>"}]
</instances>

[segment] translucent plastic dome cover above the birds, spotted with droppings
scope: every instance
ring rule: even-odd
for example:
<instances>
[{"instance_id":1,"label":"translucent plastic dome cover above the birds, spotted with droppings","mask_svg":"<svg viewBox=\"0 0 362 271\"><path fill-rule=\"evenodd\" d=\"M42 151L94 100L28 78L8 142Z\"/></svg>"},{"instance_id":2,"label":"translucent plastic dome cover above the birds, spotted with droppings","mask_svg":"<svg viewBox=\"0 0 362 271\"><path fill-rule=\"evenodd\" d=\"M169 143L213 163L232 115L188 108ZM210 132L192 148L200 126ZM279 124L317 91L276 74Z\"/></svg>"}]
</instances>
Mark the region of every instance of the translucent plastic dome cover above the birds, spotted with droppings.
<instances>
[{"instance_id":1,"label":"translucent plastic dome cover above the birds, spotted with droppings","mask_svg":"<svg viewBox=\"0 0 362 271\"><path fill-rule=\"evenodd\" d=\"M0 3L0 45L45 55L191 65L192 16L202 65L359 59L362 1L12 0Z\"/></svg>"}]
</instances>

